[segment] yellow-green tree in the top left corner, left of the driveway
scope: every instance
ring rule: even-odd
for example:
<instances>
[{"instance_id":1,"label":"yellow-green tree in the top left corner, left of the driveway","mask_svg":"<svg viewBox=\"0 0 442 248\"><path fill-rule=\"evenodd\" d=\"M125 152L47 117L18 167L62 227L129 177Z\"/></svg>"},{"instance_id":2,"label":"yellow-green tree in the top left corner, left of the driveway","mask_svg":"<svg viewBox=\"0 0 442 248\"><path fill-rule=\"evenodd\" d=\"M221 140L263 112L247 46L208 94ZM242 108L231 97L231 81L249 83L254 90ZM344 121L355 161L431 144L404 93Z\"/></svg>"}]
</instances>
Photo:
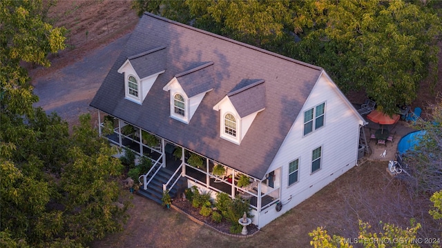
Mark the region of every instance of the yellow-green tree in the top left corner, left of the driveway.
<instances>
[{"instance_id":1,"label":"yellow-green tree in the top left corner, left of the driveway","mask_svg":"<svg viewBox=\"0 0 442 248\"><path fill-rule=\"evenodd\" d=\"M32 103L38 101L20 63L49 66L47 55L65 48L65 29L44 21L48 6L41 0L0 2L0 100L5 112L32 114Z\"/></svg>"}]
</instances>

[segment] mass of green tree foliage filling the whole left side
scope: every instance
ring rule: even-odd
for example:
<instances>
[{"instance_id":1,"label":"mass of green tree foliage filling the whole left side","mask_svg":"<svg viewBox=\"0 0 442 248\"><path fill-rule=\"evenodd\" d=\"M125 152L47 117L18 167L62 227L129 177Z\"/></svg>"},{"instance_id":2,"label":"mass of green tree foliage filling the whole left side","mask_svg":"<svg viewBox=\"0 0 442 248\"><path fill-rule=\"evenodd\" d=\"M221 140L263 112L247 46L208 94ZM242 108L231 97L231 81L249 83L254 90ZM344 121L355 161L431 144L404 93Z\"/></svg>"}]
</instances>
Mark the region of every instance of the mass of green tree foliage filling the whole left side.
<instances>
[{"instance_id":1,"label":"mass of green tree foliage filling the whole left side","mask_svg":"<svg viewBox=\"0 0 442 248\"><path fill-rule=\"evenodd\" d=\"M70 135L57 114L32 107L38 97L21 63L49 66L48 54L64 48L64 29L44 21L46 7L0 1L1 247L84 247L126 218L112 180L122 165L90 116Z\"/></svg>"}]
</instances>

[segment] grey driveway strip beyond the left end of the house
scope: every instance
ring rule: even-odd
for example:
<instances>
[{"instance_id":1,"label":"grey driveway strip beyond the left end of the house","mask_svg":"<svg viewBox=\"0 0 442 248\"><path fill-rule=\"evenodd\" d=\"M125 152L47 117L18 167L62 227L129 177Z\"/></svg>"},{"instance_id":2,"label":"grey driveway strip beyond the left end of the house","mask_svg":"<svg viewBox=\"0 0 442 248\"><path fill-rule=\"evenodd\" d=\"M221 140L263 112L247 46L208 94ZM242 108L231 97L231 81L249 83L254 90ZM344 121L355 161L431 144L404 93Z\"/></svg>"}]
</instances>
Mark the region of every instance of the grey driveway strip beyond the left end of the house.
<instances>
[{"instance_id":1,"label":"grey driveway strip beyond the left end of the house","mask_svg":"<svg viewBox=\"0 0 442 248\"><path fill-rule=\"evenodd\" d=\"M75 63L32 79L34 93L39 96L35 107L42 107L48 114L57 112L70 125L78 123L79 114L91 113L95 117L96 110L89 103L128 37L126 34Z\"/></svg>"}]
</instances>

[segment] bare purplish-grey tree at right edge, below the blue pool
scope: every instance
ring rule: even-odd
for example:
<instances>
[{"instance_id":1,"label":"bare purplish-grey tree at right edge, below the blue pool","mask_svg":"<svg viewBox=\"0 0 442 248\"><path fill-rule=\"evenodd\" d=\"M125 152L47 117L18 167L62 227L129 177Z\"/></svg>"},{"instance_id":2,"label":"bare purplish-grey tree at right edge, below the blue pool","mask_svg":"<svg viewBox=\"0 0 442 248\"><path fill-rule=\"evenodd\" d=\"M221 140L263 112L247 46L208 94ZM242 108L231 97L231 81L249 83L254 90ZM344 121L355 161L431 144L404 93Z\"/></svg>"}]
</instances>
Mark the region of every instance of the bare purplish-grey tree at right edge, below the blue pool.
<instances>
[{"instance_id":1,"label":"bare purplish-grey tree at right edge, below the blue pool","mask_svg":"<svg viewBox=\"0 0 442 248\"><path fill-rule=\"evenodd\" d=\"M442 96L427 107L428 119L419 118L414 127L425 130L419 143L407 151L407 163L413 189L434 193L442 189Z\"/></svg>"}]
</instances>

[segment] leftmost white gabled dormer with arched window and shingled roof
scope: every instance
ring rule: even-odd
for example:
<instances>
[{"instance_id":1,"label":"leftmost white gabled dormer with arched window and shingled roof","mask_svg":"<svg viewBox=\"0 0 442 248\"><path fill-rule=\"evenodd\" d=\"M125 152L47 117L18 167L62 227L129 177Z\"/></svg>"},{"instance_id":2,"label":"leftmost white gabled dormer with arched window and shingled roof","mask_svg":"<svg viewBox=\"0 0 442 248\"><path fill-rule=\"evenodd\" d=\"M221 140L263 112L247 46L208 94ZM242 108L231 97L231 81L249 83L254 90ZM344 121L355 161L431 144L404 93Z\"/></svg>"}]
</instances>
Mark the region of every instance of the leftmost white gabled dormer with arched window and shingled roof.
<instances>
[{"instance_id":1,"label":"leftmost white gabled dormer with arched window and shingled roof","mask_svg":"<svg viewBox=\"0 0 442 248\"><path fill-rule=\"evenodd\" d=\"M142 104L157 77L166 70L166 47L130 56L118 69L124 74L124 96Z\"/></svg>"}]
</instances>

